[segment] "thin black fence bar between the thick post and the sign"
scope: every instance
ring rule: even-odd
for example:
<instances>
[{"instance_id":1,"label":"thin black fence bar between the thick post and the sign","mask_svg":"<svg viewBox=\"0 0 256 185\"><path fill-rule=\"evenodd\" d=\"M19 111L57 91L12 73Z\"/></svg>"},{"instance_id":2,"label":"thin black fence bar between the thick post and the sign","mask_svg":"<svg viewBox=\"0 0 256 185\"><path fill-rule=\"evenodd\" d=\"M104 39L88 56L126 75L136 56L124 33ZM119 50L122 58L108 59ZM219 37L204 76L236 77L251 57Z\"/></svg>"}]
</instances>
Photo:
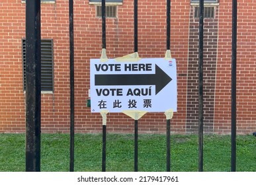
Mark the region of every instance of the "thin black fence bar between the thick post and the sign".
<instances>
[{"instance_id":1,"label":"thin black fence bar between the thick post and the sign","mask_svg":"<svg viewBox=\"0 0 256 185\"><path fill-rule=\"evenodd\" d=\"M75 149L75 89L74 89L74 38L73 38L73 0L69 0L69 70L70 70L70 158L69 171L74 171Z\"/></svg>"}]
</instances>

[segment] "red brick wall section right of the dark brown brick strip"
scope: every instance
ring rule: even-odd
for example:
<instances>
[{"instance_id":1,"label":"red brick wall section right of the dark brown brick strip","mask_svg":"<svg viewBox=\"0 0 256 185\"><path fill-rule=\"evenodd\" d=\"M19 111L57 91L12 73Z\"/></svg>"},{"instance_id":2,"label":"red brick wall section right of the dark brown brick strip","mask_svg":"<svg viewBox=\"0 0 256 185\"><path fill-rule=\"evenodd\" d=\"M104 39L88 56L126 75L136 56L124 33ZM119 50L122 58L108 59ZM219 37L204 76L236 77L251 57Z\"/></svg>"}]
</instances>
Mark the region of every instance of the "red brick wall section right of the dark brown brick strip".
<instances>
[{"instance_id":1,"label":"red brick wall section right of the dark brown brick strip","mask_svg":"<svg viewBox=\"0 0 256 185\"><path fill-rule=\"evenodd\" d=\"M220 2L220 7L214 129L230 133L232 1ZM237 131L251 133L256 130L256 5L237 1L237 8Z\"/></svg>"}]
</instances>

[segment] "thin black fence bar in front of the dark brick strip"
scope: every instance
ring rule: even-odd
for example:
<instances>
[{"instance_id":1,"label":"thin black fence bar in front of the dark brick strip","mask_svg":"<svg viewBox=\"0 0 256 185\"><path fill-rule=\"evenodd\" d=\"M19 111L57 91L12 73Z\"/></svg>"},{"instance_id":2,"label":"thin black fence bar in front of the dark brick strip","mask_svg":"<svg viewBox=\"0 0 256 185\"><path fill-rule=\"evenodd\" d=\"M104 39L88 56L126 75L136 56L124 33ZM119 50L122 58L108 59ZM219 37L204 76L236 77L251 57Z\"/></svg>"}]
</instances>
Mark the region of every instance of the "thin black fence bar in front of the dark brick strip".
<instances>
[{"instance_id":1,"label":"thin black fence bar in front of the dark brick strip","mask_svg":"<svg viewBox=\"0 0 256 185\"><path fill-rule=\"evenodd\" d=\"M198 171L203 170L203 55L204 55L204 0L199 1L199 61L198 61Z\"/></svg>"}]
</instances>

